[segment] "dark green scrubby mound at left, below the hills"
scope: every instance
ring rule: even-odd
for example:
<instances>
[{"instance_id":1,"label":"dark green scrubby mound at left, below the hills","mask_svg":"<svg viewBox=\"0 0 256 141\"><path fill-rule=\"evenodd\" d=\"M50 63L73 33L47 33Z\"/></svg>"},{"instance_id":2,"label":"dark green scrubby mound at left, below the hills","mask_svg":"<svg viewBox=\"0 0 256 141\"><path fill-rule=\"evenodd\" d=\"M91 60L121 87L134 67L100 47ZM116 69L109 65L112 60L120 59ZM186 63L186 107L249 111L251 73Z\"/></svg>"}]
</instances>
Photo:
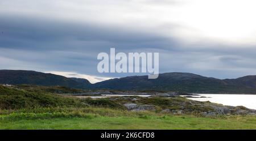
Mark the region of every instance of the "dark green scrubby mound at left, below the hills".
<instances>
[{"instance_id":1,"label":"dark green scrubby mound at left, below the hills","mask_svg":"<svg viewBox=\"0 0 256 141\"><path fill-rule=\"evenodd\" d=\"M30 92L0 86L0 109L37 108L47 106L82 106L78 99L54 93Z\"/></svg>"}]
</instances>

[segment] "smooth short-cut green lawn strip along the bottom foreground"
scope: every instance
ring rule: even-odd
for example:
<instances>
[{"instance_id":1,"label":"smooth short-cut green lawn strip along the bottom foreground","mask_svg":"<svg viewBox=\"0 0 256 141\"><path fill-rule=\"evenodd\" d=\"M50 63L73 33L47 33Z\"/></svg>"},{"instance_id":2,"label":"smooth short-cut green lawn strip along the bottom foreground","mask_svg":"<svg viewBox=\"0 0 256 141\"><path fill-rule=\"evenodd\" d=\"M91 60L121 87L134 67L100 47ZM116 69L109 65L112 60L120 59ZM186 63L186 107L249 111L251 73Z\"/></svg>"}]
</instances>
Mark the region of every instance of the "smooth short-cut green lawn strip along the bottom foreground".
<instances>
[{"instance_id":1,"label":"smooth short-cut green lawn strip along the bottom foreground","mask_svg":"<svg viewBox=\"0 0 256 141\"><path fill-rule=\"evenodd\" d=\"M106 117L0 120L0 129L256 129L255 117L189 116Z\"/></svg>"}]
</instances>

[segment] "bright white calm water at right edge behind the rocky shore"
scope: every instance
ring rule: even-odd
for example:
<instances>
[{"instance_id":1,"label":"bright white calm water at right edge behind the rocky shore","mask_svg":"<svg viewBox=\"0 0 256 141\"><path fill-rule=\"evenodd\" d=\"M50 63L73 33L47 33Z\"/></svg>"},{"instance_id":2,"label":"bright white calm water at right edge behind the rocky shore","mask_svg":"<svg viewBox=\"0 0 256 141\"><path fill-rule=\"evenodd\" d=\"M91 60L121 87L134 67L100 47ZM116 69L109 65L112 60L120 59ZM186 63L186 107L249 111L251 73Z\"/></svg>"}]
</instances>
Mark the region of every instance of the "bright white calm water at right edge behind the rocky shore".
<instances>
[{"instance_id":1,"label":"bright white calm water at right edge behind the rocky shore","mask_svg":"<svg viewBox=\"0 0 256 141\"><path fill-rule=\"evenodd\" d=\"M256 95L226 95L226 94L200 94L207 98L188 98L197 101L210 101L230 106L245 106L250 109L256 109ZM200 97L193 96L193 97Z\"/></svg>"}]
</instances>

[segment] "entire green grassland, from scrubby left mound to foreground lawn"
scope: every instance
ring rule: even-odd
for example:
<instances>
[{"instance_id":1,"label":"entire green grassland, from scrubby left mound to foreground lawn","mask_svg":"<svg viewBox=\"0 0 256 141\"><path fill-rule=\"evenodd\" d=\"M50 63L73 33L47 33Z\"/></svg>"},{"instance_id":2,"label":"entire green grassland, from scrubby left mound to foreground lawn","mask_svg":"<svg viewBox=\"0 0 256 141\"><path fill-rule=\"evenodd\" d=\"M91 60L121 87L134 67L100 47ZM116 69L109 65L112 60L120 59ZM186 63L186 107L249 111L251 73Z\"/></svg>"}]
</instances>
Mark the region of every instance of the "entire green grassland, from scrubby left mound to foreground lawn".
<instances>
[{"instance_id":1,"label":"entire green grassland, from scrubby left mound to foreground lawn","mask_svg":"<svg viewBox=\"0 0 256 141\"><path fill-rule=\"evenodd\" d=\"M44 91L44 87L31 89L0 86L0 129L256 129L256 116L201 116L195 112L211 111L210 103L196 102L192 106L193 101L184 97L94 100L58 95ZM123 104L131 100L154 105L155 110L127 110ZM192 113L162 110L182 107Z\"/></svg>"}]
</instances>

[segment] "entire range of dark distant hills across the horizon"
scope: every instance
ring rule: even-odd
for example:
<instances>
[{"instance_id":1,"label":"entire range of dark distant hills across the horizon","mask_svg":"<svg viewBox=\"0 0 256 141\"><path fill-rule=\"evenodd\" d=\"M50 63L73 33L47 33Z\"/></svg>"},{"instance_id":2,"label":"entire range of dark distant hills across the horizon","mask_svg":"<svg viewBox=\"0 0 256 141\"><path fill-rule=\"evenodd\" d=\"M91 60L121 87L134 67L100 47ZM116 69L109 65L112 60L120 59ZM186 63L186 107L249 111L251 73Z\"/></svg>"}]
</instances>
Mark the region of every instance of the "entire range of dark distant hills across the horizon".
<instances>
[{"instance_id":1,"label":"entire range of dark distant hills across the horizon","mask_svg":"<svg viewBox=\"0 0 256 141\"><path fill-rule=\"evenodd\" d=\"M183 91L191 93L254 93L256 76L237 79L216 79L201 75L170 72L159 74L157 79L146 76L127 76L91 84L86 79L66 78L25 70L0 70L0 84L31 84L39 86L65 86L80 89L119 89L135 91Z\"/></svg>"}]
</instances>

